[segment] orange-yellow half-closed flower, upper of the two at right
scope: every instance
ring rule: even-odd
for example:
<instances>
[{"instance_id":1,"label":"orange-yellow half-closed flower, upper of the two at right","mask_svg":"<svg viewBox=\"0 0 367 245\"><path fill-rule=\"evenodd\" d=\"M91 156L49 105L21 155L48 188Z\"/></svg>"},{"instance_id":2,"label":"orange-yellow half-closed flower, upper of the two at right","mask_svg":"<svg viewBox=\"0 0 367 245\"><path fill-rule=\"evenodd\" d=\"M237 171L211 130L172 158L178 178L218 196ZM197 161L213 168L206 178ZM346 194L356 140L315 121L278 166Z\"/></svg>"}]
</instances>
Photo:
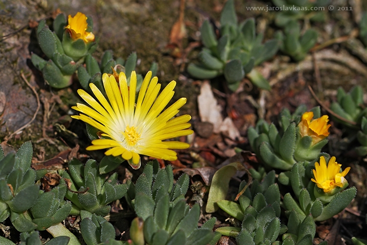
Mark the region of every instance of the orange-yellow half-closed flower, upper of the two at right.
<instances>
[{"instance_id":1,"label":"orange-yellow half-closed flower, upper of the two at right","mask_svg":"<svg viewBox=\"0 0 367 245\"><path fill-rule=\"evenodd\" d=\"M303 113L302 120L298 123L298 127L301 136L311 136L312 143L315 145L329 135L329 127L331 125L327 124L327 122L329 122L329 117L327 115L315 120L312 120L313 117L314 113L312 111Z\"/></svg>"}]
</instances>

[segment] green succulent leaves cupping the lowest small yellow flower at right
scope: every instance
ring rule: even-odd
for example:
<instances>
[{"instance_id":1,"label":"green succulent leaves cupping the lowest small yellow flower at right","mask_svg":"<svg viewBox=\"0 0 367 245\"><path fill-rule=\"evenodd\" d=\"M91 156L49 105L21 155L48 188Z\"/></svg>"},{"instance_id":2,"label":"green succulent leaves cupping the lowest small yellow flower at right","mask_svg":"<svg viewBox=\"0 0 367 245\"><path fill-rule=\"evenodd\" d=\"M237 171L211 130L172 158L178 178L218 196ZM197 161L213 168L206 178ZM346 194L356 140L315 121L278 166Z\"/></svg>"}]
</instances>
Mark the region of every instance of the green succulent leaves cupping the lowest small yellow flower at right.
<instances>
[{"instance_id":1,"label":"green succulent leaves cupping the lowest small yellow flower at right","mask_svg":"<svg viewBox=\"0 0 367 245\"><path fill-rule=\"evenodd\" d=\"M326 157L327 161L329 161L328 158L330 157ZM343 187L336 187L325 193L311 181L311 178L315 178L311 175L312 169L313 164L309 163L293 165L290 183L298 201L287 193L283 203L288 211L295 210L300 220L311 214L315 221L324 221L348 206L357 190L355 187L344 190L348 186L348 182L345 182Z\"/></svg>"}]
</instances>

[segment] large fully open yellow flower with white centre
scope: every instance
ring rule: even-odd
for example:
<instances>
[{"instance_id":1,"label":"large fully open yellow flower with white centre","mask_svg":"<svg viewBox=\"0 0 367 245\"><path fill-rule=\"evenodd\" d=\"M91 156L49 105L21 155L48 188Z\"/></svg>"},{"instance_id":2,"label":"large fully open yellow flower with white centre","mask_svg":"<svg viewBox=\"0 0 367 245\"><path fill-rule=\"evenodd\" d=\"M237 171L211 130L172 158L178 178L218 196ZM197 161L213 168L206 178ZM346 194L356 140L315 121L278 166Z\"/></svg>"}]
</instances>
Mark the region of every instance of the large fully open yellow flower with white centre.
<instances>
[{"instance_id":1,"label":"large fully open yellow flower with white centre","mask_svg":"<svg viewBox=\"0 0 367 245\"><path fill-rule=\"evenodd\" d=\"M84 90L78 94L90 105L78 103L72 108L84 114L72 118L89 123L103 133L102 139L92 141L87 150L108 149L105 154L118 156L128 160L129 164L140 167L139 154L165 160L176 160L177 153L172 149L185 149L189 144L179 141L164 141L167 139L192 134L187 123L190 115L173 118L186 103L186 98L180 98L162 112L174 95L175 81L171 81L158 96L161 84L157 83L152 72L148 72L141 85L136 101L137 74L131 73L130 87L125 73L120 73L118 82L114 75L102 75L103 86L108 100L101 91L90 84L96 101ZM158 97L157 97L158 96ZM92 107L92 108L91 108Z\"/></svg>"}]
</instances>

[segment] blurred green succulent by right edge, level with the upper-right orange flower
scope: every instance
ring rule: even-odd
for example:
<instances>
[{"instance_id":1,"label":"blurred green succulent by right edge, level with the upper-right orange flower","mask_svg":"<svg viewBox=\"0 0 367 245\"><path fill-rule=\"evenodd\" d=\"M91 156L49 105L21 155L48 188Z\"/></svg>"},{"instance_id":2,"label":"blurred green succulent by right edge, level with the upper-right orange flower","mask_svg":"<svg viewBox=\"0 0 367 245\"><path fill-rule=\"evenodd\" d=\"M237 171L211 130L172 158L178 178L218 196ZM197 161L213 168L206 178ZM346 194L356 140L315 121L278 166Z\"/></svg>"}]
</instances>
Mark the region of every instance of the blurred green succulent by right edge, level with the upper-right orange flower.
<instances>
[{"instance_id":1,"label":"blurred green succulent by right edge, level with the upper-right orange flower","mask_svg":"<svg viewBox=\"0 0 367 245\"><path fill-rule=\"evenodd\" d=\"M349 121L360 124L363 117L367 117L367 108L363 102L363 90L361 86L354 86L348 93L345 93L343 88L338 89L337 101L330 105L330 109ZM344 122L335 118L336 122L342 123L345 126L356 128L355 125Z\"/></svg>"}]
</instances>

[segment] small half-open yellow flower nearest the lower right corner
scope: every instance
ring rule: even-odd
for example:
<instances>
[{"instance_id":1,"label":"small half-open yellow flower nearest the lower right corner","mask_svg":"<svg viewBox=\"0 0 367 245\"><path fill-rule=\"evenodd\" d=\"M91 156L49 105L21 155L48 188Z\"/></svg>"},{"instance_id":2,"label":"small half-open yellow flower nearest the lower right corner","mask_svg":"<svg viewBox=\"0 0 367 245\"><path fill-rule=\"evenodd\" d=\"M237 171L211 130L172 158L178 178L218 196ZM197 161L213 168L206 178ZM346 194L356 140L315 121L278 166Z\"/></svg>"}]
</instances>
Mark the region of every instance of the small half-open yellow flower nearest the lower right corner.
<instances>
[{"instance_id":1,"label":"small half-open yellow flower nearest the lower right corner","mask_svg":"<svg viewBox=\"0 0 367 245\"><path fill-rule=\"evenodd\" d=\"M315 182L325 193L330 192L337 186L343 187L346 182L344 177L350 170L350 167L348 167L343 172L340 172L340 167L342 167L342 165L335 162L335 160L335 156L330 158L326 167L325 158L321 156L320 164L316 162L315 169L312 170L315 179L312 178L311 181Z\"/></svg>"}]
</instances>

